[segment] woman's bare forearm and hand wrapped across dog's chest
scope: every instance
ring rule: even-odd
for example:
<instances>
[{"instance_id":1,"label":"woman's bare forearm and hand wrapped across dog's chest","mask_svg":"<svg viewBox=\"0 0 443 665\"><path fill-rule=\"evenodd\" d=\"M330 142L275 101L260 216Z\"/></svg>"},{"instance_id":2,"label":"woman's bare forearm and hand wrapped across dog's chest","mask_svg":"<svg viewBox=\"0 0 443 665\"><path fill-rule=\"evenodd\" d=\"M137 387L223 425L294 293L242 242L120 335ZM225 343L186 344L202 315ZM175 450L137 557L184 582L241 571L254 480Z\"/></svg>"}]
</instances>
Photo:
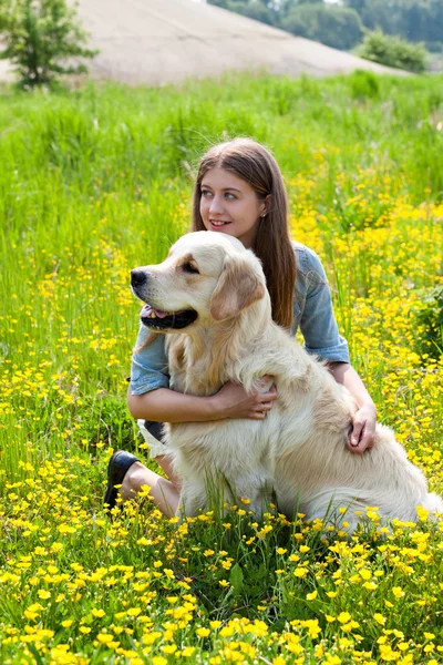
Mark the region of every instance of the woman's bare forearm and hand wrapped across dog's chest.
<instances>
[{"instance_id":1,"label":"woman's bare forearm and hand wrapped across dog's chest","mask_svg":"<svg viewBox=\"0 0 443 665\"><path fill-rule=\"evenodd\" d=\"M262 381L269 382L269 377ZM224 418L264 420L277 399L275 386L267 392L247 393L243 386L226 383L212 397L195 397L169 388L157 388L142 395L127 391L127 407L134 418L157 422L206 422Z\"/></svg>"}]
</instances>

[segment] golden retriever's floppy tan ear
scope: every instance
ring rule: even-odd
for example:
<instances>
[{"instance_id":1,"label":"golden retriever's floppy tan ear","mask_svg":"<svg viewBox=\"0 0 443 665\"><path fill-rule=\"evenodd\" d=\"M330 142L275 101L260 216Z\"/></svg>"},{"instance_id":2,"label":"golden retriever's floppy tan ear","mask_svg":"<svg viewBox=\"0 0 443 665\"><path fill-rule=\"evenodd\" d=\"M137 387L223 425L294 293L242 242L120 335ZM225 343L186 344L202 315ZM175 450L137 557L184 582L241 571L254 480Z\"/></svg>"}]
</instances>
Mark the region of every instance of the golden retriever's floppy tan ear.
<instances>
[{"instance_id":1,"label":"golden retriever's floppy tan ear","mask_svg":"<svg viewBox=\"0 0 443 665\"><path fill-rule=\"evenodd\" d=\"M216 321L233 318L264 295L265 286L253 266L244 258L228 257L210 299L210 315Z\"/></svg>"}]
</instances>

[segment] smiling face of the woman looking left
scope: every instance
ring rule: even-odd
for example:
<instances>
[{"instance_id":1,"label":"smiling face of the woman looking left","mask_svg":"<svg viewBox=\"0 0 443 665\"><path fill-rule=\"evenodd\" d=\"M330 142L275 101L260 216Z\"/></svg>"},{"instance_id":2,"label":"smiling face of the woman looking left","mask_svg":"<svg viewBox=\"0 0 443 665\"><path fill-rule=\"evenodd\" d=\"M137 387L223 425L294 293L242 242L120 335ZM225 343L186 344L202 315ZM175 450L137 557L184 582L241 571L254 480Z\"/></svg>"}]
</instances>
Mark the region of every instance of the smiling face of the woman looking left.
<instances>
[{"instance_id":1,"label":"smiling face of the woman looking left","mask_svg":"<svg viewBox=\"0 0 443 665\"><path fill-rule=\"evenodd\" d=\"M225 168L210 168L200 185L200 215L206 231L218 231L254 247L266 202L253 187Z\"/></svg>"}]
</instances>

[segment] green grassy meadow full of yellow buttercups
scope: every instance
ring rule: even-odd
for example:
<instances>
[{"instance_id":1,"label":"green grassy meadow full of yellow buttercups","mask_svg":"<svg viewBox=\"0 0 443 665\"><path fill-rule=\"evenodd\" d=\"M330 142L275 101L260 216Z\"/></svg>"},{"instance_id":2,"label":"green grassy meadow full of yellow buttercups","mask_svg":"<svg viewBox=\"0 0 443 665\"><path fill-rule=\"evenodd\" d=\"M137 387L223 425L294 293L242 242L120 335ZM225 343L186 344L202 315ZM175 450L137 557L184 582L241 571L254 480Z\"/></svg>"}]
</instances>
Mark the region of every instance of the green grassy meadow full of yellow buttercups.
<instances>
[{"instance_id":1,"label":"green grassy meadow full of yellow buttercups","mask_svg":"<svg viewBox=\"0 0 443 665\"><path fill-rule=\"evenodd\" d=\"M186 232L198 155L270 147L352 364L443 493L443 78L226 76L0 92L0 663L443 662L443 515L352 539L248 500L182 525L148 491L113 520L132 267ZM158 469L157 469L158 470Z\"/></svg>"}]
</instances>

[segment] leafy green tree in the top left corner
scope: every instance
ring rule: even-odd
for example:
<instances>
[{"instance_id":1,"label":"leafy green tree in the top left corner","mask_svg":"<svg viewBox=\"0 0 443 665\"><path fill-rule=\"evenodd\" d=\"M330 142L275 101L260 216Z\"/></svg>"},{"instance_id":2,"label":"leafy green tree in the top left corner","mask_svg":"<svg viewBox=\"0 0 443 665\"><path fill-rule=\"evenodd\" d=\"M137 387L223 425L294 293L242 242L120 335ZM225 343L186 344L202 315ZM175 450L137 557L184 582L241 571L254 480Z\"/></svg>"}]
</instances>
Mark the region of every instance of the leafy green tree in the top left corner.
<instances>
[{"instance_id":1,"label":"leafy green tree in the top left corner","mask_svg":"<svg viewBox=\"0 0 443 665\"><path fill-rule=\"evenodd\" d=\"M82 47L86 33L75 8L66 0L0 0L0 37L8 59L23 85L51 83L60 74L86 72L73 58L93 58L96 51Z\"/></svg>"}]
</instances>

